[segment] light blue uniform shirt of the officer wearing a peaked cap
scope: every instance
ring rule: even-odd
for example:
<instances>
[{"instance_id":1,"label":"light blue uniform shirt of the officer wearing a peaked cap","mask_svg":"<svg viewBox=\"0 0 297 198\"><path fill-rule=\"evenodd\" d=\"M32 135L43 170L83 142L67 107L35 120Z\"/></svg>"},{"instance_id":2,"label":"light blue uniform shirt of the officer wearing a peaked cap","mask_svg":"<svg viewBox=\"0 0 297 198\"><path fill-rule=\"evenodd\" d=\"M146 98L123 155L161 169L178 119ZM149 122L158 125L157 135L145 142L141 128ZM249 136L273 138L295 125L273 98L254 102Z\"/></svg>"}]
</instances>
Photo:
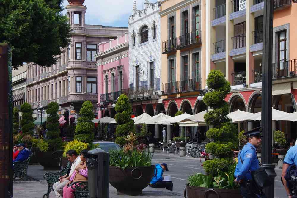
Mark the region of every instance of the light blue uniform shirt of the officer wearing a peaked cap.
<instances>
[{"instance_id":1,"label":"light blue uniform shirt of the officer wearing a peaked cap","mask_svg":"<svg viewBox=\"0 0 297 198\"><path fill-rule=\"evenodd\" d=\"M241 160L243 163L241 163ZM256 147L248 142L238 155L238 164L236 165L234 176L237 180L250 180L252 179L251 171L257 170L259 167Z\"/></svg>"}]
</instances>

